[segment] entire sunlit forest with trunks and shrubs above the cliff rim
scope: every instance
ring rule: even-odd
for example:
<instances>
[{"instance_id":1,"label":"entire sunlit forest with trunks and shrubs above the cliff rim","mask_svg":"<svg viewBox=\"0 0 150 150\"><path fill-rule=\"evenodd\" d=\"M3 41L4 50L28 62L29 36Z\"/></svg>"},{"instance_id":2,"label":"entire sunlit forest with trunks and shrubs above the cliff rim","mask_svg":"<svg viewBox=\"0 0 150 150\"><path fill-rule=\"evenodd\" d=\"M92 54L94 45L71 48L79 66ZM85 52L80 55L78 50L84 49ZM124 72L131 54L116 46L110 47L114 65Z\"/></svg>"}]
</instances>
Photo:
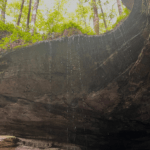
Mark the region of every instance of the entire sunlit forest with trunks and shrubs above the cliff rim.
<instances>
[{"instance_id":1,"label":"entire sunlit forest with trunks and shrubs above the cliff rim","mask_svg":"<svg viewBox=\"0 0 150 150\"><path fill-rule=\"evenodd\" d=\"M75 33L103 34L129 13L121 0L0 0L0 51Z\"/></svg>"}]
</instances>

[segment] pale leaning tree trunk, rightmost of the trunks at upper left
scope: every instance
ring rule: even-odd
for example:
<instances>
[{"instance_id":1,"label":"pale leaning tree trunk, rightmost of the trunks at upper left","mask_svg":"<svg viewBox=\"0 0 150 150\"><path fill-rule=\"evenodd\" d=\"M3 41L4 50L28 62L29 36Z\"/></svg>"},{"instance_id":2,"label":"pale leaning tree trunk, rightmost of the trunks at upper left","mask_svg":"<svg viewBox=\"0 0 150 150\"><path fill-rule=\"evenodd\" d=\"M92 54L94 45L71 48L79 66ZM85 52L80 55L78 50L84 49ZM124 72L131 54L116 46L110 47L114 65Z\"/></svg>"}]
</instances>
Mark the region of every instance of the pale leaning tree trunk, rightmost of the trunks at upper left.
<instances>
[{"instance_id":1,"label":"pale leaning tree trunk, rightmost of the trunks at upper left","mask_svg":"<svg viewBox=\"0 0 150 150\"><path fill-rule=\"evenodd\" d=\"M34 26L35 26L35 22L36 22L36 14L37 14L38 5L39 5L39 0L35 0L34 7L33 7L33 12L32 12L32 19L31 19L32 29L31 29L30 32L32 34L34 33Z\"/></svg>"}]
</instances>

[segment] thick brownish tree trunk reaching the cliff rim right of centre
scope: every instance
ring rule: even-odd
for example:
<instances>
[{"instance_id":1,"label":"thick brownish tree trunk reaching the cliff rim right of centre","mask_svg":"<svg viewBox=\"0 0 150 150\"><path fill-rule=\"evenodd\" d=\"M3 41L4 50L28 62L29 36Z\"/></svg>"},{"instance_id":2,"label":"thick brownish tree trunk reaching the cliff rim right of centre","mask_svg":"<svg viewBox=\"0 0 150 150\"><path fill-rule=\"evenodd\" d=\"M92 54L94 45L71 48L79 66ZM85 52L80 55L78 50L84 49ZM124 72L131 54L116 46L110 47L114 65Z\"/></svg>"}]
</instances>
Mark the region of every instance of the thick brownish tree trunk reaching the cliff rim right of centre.
<instances>
[{"instance_id":1,"label":"thick brownish tree trunk reaching the cliff rim right of centre","mask_svg":"<svg viewBox=\"0 0 150 150\"><path fill-rule=\"evenodd\" d=\"M94 31L97 35L99 35L99 18L98 18L96 0L93 0L93 11L94 11L94 18L93 18Z\"/></svg>"}]
</instances>

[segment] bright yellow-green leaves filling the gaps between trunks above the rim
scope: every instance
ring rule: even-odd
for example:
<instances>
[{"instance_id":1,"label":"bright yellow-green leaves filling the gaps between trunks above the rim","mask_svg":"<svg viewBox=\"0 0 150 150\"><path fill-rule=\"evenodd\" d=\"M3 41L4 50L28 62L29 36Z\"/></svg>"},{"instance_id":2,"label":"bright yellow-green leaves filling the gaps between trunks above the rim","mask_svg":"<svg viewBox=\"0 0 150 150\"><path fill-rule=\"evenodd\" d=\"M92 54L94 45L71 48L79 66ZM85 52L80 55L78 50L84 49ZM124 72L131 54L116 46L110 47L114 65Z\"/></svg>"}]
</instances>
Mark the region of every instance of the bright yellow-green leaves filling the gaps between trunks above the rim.
<instances>
[{"instance_id":1,"label":"bright yellow-green leaves filling the gaps between trunks above the rim","mask_svg":"<svg viewBox=\"0 0 150 150\"><path fill-rule=\"evenodd\" d=\"M3 7L3 1L4 0L0 0L0 9L2 9ZM55 32L62 34L65 29L70 28L76 28L80 30L83 34L95 35L95 32L91 27L91 22L93 22L94 16L92 7L93 0L77 1L78 4L75 13L66 13L68 7L67 3L71 2L69 0L54 0L54 6L52 9L49 9L49 6L44 7L44 9L38 8L34 34L31 35L30 32L26 31L29 0L26 0L24 3L20 26L17 26L16 24L20 12L21 0L11 0L11 2L7 4L6 14L9 17L13 18L12 23L4 24L2 21L0 21L0 30L8 31L11 34L1 39L0 48L9 49L11 48L11 45L16 44L18 40L21 41L22 46L27 46L29 44L33 44L35 42L46 39L47 34L49 33ZM106 30L103 22L103 16L98 3L99 0L97 0L96 2L99 12L99 26L101 34L106 31L112 30L120 21L125 19L130 13L127 8L123 8L123 14L117 17L116 22L113 24L112 20L116 18L118 10L114 9L113 7L110 8L109 5L110 3L113 4L114 2L116 2L116 0L101 0L101 5L104 9L104 16L108 26ZM40 0L39 4L42 5L42 3L42 0ZM31 9L31 15L32 10L33 4ZM44 37L42 35L43 33L45 34ZM16 44L16 48L22 46Z\"/></svg>"}]
</instances>

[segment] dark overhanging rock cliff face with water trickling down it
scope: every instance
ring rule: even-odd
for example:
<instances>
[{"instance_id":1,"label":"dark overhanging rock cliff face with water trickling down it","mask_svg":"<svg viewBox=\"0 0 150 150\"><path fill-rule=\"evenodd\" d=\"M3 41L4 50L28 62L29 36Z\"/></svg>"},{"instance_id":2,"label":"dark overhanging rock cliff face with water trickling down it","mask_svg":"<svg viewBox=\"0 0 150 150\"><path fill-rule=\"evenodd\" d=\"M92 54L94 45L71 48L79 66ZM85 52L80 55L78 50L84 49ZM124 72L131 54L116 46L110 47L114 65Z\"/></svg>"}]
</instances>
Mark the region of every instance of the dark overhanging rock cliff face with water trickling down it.
<instances>
[{"instance_id":1,"label":"dark overhanging rock cliff face with water trickling down it","mask_svg":"<svg viewBox=\"0 0 150 150\"><path fill-rule=\"evenodd\" d=\"M102 36L44 41L3 55L0 134L61 149L149 147L146 2L136 0L123 24Z\"/></svg>"}]
</instances>

